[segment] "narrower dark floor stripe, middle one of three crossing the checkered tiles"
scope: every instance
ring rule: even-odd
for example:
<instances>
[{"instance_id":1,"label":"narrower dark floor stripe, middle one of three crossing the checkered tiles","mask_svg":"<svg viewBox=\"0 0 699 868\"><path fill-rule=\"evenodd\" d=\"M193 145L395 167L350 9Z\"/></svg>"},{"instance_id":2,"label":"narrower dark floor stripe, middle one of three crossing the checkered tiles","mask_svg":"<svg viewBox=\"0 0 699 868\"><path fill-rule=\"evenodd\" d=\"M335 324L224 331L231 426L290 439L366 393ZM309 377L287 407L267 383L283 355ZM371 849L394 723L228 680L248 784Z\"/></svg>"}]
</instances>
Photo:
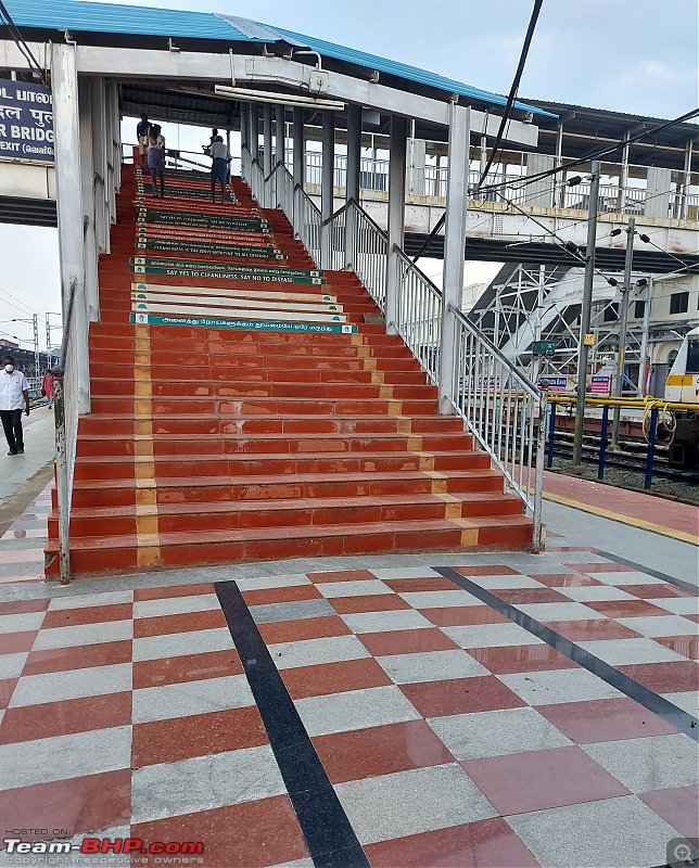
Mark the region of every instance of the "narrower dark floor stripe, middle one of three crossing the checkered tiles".
<instances>
[{"instance_id":1,"label":"narrower dark floor stripe, middle one of three crossing the checkered tiles","mask_svg":"<svg viewBox=\"0 0 699 868\"><path fill-rule=\"evenodd\" d=\"M596 658L594 654L590 654L589 651L571 642L570 639L567 639L550 627L531 617L531 615L520 612L519 609L500 600L500 598L496 597L492 591L482 588L480 585L471 582L471 579L457 573L456 570L449 566L433 566L432 569L435 573L444 576L444 578L448 578L450 582L454 582L455 585L458 585L463 590L478 597L479 600L490 605L491 609L495 609L496 612L505 615L505 617L509 618L514 624L524 627L528 633L542 639L546 644L549 644L569 660L572 660L584 669L592 672L593 675L607 681L611 687L625 693L627 697L648 709L649 712L657 714L659 717L662 717L663 720L677 727L681 732L689 736L689 738L692 738L695 741L699 741L699 722L696 717L692 717L688 712L684 711L684 709L678 709L676 705L673 705L673 703L669 702L664 697L654 693L652 690L644 687L644 685L624 675L624 673L619 672L619 669L615 669L609 663L605 663L603 660Z\"/></svg>"}]
</instances>

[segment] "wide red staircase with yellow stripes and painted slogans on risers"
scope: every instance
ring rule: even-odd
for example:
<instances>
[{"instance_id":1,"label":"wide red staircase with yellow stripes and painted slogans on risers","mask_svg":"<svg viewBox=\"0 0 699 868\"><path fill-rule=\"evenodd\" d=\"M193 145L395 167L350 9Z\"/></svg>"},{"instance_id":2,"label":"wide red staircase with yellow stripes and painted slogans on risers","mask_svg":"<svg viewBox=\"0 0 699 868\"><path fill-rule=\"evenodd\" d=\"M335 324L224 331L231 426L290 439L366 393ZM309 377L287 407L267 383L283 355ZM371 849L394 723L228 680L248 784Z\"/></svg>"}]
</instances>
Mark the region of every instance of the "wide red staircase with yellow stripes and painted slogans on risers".
<instances>
[{"instance_id":1,"label":"wide red staircase with yellow stripes and painted slogans on risers","mask_svg":"<svg viewBox=\"0 0 699 868\"><path fill-rule=\"evenodd\" d=\"M165 199L125 166L90 328L74 574L292 557L526 549L532 522L387 335L240 179ZM136 227L136 229L135 229ZM47 574L58 573L58 514Z\"/></svg>"}]
</instances>

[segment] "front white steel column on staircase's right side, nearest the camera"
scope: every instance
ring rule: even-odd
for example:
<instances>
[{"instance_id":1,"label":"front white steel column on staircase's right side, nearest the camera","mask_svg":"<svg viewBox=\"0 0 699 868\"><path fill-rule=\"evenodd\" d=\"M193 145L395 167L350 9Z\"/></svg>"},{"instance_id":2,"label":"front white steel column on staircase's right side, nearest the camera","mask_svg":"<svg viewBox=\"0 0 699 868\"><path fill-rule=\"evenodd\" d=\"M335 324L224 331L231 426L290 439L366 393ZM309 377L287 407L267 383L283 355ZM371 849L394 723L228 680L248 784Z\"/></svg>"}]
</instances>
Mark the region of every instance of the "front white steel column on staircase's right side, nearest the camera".
<instances>
[{"instance_id":1,"label":"front white steel column on staircase's right side, nearest the camera","mask_svg":"<svg viewBox=\"0 0 699 868\"><path fill-rule=\"evenodd\" d=\"M440 346L440 412L453 413L455 393L456 318L463 295L463 245L469 181L469 135L471 113L468 106L449 104L449 144L446 171L446 222L444 226L444 271L442 282L442 344Z\"/></svg>"}]
</instances>

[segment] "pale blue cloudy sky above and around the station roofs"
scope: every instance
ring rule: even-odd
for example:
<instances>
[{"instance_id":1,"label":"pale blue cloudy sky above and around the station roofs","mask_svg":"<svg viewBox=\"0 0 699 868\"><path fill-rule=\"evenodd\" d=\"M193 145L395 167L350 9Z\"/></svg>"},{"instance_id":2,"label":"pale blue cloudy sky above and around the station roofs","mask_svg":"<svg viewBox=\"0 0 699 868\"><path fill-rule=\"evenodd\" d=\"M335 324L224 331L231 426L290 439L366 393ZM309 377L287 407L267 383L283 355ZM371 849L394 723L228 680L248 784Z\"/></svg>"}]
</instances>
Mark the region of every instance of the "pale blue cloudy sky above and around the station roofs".
<instances>
[{"instance_id":1,"label":"pale blue cloudy sky above and around the station roofs","mask_svg":"<svg viewBox=\"0 0 699 868\"><path fill-rule=\"evenodd\" d=\"M151 0L149 5L253 17L507 93L533 3ZM520 98L676 117L699 103L697 15L697 0L544 0ZM168 144L176 141L170 137ZM28 323L5 320L27 310L42 320L46 310L59 309L56 246L55 230L0 225L0 337L31 334ZM429 275L435 265L428 265ZM493 270L467 265L466 282L488 280ZM18 297L24 310L3 301L2 291Z\"/></svg>"}]
</instances>

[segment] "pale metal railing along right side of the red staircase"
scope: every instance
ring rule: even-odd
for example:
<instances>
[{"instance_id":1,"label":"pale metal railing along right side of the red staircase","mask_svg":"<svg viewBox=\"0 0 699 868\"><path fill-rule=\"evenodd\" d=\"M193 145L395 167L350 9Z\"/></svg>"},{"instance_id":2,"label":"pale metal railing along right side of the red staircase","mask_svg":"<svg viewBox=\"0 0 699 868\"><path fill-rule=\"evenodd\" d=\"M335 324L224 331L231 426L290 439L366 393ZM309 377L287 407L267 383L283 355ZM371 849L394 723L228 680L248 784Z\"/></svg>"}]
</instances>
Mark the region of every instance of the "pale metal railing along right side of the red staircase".
<instances>
[{"instance_id":1,"label":"pale metal railing along right side of the red staircase","mask_svg":"<svg viewBox=\"0 0 699 868\"><path fill-rule=\"evenodd\" d=\"M260 176L252 164L250 171L255 184L251 184L253 193L264 199ZM454 412L503 472L506 484L531 512L532 547L538 551L543 546L546 393L539 392L460 310L445 309L442 292L398 246L392 251L395 256L389 256L386 233L357 202L350 200L322 221L318 208L298 184L293 186L281 162L272 175L276 204L284 210L316 265L328 270L352 267L384 315L389 268L398 269L395 328L428 376L440 384L441 394ZM271 176L263 178L267 189L271 182ZM452 330L455 339L449 342L455 357L453 365L445 366L454 376L444 383L442 348L446 330Z\"/></svg>"}]
</instances>

